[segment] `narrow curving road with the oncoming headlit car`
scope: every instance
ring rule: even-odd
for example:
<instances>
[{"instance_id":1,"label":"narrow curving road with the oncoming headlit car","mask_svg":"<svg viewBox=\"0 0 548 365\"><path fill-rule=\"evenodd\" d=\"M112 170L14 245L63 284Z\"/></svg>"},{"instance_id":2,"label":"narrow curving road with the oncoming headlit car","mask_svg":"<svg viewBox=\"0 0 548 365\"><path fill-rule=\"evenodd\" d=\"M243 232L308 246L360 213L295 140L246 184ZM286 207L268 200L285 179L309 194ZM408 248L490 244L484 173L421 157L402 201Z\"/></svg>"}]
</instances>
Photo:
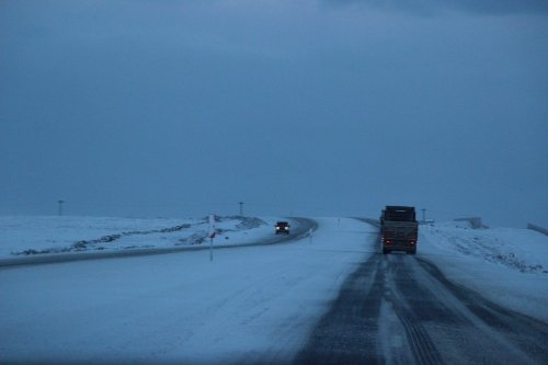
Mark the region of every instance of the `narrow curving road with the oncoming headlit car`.
<instances>
[{"instance_id":1,"label":"narrow curving road with the oncoming headlit car","mask_svg":"<svg viewBox=\"0 0 548 365\"><path fill-rule=\"evenodd\" d=\"M290 233L287 236L279 236L273 233L272 236L265 237L264 239L261 239L260 241L256 242L214 246L214 249L215 250L232 249L238 247L287 243L307 237L310 230L315 231L318 227L318 224L310 218L290 217L287 219L290 219L292 221L295 223L292 227ZM174 252L198 251L208 249L209 249L208 244L203 244L203 246L183 246L173 248L127 249L118 251L105 250L105 251L94 251L94 252L34 254L34 255L19 256L13 259L2 259L0 260L0 267L60 263L60 262L82 261L82 260L101 260L101 259L113 259L113 258L167 254Z\"/></svg>"}]
</instances>

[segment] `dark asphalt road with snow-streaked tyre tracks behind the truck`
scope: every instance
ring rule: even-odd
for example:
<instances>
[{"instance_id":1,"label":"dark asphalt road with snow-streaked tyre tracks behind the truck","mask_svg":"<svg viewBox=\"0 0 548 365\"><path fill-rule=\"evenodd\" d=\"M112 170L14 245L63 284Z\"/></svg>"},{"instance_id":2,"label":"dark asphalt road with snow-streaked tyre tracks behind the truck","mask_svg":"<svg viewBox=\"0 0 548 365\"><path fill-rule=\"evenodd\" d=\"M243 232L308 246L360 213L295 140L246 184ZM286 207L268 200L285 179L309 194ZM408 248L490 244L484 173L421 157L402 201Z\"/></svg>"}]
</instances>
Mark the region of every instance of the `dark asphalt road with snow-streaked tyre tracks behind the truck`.
<instances>
[{"instance_id":1,"label":"dark asphalt road with snow-streaked tyre tracks behind the truck","mask_svg":"<svg viewBox=\"0 0 548 365\"><path fill-rule=\"evenodd\" d=\"M294 363L548 364L548 323L453 284L426 260L374 254Z\"/></svg>"}]
</instances>

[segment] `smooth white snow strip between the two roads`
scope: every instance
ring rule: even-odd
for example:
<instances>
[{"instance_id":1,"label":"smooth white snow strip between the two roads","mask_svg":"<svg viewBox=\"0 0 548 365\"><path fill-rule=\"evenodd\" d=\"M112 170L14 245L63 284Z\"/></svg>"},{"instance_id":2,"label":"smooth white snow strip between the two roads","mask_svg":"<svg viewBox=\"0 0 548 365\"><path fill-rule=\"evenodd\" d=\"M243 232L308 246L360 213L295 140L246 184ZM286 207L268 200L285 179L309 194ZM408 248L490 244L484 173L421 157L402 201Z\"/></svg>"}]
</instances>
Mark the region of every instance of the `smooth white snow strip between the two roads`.
<instances>
[{"instance_id":1,"label":"smooth white snow strip between the two roads","mask_svg":"<svg viewBox=\"0 0 548 365\"><path fill-rule=\"evenodd\" d=\"M0 269L1 360L290 358L376 238L353 219L319 224L312 240L218 250L213 262L187 251Z\"/></svg>"}]
</instances>

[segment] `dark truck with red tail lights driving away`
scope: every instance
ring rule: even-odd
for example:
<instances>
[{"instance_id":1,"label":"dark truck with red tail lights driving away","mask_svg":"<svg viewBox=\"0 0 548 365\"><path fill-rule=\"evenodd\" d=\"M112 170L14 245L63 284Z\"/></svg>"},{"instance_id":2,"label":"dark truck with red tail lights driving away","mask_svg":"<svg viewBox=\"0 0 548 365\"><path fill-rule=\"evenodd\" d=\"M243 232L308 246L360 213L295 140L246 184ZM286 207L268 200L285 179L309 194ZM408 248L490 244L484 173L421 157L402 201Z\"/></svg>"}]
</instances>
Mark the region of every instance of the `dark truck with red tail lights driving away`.
<instances>
[{"instance_id":1,"label":"dark truck with red tail lights driving away","mask_svg":"<svg viewBox=\"0 0 548 365\"><path fill-rule=\"evenodd\" d=\"M380 213L380 244L384 254L391 251L416 253L419 223L413 206L387 205Z\"/></svg>"}]
</instances>

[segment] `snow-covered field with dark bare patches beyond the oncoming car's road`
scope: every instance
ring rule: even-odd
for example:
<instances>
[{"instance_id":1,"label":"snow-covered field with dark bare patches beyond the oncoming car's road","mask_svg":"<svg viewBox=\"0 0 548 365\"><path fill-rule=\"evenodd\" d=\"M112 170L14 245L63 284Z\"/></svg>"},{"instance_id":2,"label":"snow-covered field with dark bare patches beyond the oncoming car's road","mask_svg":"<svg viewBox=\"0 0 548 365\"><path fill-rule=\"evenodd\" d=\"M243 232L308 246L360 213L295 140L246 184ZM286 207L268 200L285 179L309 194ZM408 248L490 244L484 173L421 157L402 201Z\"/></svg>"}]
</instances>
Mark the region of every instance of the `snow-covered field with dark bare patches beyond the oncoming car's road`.
<instances>
[{"instance_id":1,"label":"snow-covered field with dark bare patches beyond the oncoming car's road","mask_svg":"<svg viewBox=\"0 0 548 365\"><path fill-rule=\"evenodd\" d=\"M216 217L215 246L272 236L275 218ZM173 248L209 243L202 219L113 217L0 217L0 259L67 252Z\"/></svg>"}]
</instances>

